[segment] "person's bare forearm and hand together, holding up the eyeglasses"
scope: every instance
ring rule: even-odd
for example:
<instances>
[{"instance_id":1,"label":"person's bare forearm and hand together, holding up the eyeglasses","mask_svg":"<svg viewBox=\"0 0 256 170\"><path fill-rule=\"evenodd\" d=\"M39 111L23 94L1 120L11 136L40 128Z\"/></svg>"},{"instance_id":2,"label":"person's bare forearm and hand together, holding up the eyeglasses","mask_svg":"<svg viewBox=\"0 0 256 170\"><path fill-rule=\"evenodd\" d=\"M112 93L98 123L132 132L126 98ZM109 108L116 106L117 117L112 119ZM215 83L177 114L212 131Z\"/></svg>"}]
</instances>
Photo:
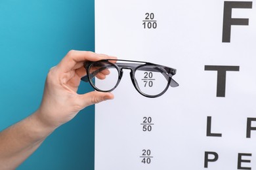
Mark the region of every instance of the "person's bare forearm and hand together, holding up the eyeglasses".
<instances>
[{"instance_id":1,"label":"person's bare forearm and hand together, holding up the eyeglasses","mask_svg":"<svg viewBox=\"0 0 256 170\"><path fill-rule=\"evenodd\" d=\"M0 132L0 169L15 169L26 160L56 127L72 120L89 105L114 99L112 93L78 94L83 63L112 58L94 52L71 50L58 65L50 69L43 100L37 112Z\"/></svg>"}]
</instances>

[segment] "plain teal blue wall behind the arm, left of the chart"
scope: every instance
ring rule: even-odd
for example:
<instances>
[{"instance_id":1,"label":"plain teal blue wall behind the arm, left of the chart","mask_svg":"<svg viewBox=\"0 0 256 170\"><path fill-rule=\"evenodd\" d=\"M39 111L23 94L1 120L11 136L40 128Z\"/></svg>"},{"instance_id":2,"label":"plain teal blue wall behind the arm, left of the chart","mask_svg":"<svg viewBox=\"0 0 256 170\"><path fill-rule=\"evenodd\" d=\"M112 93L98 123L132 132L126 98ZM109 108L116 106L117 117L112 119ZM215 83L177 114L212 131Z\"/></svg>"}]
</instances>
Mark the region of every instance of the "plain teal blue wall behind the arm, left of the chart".
<instances>
[{"instance_id":1,"label":"plain teal blue wall behind the arm, left of the chart","mask_svg":"<svg viewBox=\"0 0 256 170\"><path fill-rule=\"evenodd\" d=\"M49 69L69 50L94 42L93 0L1 0L0 130L39 107ZM79 112L18 169L94 169L94 116L93 106Z\"/></svg>"}]
</instances>

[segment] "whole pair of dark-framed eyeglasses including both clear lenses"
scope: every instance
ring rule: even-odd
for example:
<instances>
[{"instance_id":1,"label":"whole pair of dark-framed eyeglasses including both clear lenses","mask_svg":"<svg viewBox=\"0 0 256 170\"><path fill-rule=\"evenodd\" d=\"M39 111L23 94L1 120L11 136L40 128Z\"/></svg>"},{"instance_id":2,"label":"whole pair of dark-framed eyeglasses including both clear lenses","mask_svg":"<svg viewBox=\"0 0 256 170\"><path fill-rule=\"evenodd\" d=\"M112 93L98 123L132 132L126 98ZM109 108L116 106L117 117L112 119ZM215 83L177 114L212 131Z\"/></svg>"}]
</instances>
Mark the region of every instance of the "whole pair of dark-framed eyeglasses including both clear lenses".
<instances>
[{"instance_id":1,"label":"whole pair of dark-framed eyeglasses including both clear lenses","mask_svg":"<svg viewBox=\"0 0 256 170\"><path fill-rule=\"evenodd\" d=\"M176 69L144 61L124 59L102 59L84 63L87 75L81 80L89 82L99 92L112 92L123 76L123 69L130 69L135 89L145 97L159 97L169 86L179 84L173 80ZM94 80L95 78L95 80Z\"/></svg>"}]
</instances>

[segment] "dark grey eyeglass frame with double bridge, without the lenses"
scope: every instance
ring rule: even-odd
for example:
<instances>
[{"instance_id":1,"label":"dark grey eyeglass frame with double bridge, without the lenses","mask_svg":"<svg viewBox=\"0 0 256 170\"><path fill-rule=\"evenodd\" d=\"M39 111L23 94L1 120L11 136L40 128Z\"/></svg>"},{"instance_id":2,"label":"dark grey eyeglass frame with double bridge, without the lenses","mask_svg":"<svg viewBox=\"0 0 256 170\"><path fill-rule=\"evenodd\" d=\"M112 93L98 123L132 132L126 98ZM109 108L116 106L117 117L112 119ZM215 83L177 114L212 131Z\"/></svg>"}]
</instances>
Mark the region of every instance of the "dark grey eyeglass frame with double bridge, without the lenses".
<instances>
[{"instance_id":1,"label":"dark grey eyeglass frame with double bridge, without the lenses","mask_svg":"<svg viewBox=\"0 0 256 170\"><path fill-rule=\"evenodd\" d=\"M110 61L116 61L116 62L110 62ZM127 62L134 62L134 63L117 63L117 61L127 61ZM108 63L108 64L112 65L113 67L115 67L118 71L118 80L116 82L116 85L114 86L114 88L112 88L110 90L100 90L93 84L93 78L95 77L95 75L98 74L100 71L110 67L110 65L108 65L108 67L102 67L96 71L93 71L93 73L90 73L89 71L90 71L93 63L100 63L100 62ZM144 63L144 64L140 64L140 63ZM159 97L167 91L169 86L171 86L171 87L179 86L179 84L172 78L172 76L176 74L176 71L177 71L176 69L173 69L171 67L166 67L163 65L158 65L155 63L150 63L150 62L145 62L145 61L133 61L133 60L126 60L126 59L102 59L99 61L85 61L83 63L83 66L85 67L87 75L83 76L81 78L81 80L83 80L85 82L89 82L91 84L91 86L93 86L93 88L95 90L97 90L98 92L112 92L118 86L118 84L121 80L121 77L123 76L123 69L131 70L130 76L131 76L131 81L133 83L133 86L135 87L137 92L139 92L141 95L144 95L145 97L152 97L152 98ZM152 66L152 68L150 68L150 66ZM142 69L143 71L156 71L156 69L158 69L158 71L160 71L160 73L163 76L165 76L165 78L167 80L167 86L165 87L165 90L163 90L163 92L159 93L158 95L148 95L148 94L140 91L139 85L137 85L137 80L135 78L135 72L137 71L137 69L139 69L141 67L144 67Z\"/></svg>"}]
</instances>

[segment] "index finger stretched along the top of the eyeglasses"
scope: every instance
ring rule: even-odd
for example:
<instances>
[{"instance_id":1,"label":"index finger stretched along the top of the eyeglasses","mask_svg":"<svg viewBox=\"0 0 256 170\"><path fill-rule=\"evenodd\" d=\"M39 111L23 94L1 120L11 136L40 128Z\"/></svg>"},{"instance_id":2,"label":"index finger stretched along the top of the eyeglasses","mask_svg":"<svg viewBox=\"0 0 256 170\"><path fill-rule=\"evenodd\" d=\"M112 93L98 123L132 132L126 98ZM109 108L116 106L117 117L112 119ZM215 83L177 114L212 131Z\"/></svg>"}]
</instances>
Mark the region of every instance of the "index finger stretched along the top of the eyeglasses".
<instances>
[{"instance_id":1,"label":"index finger stretched along the top of the eyeglasses","mask_svg":"<svg viewBox=\"0 0 256 170\"><path fill-rule=\"evenodd\" d=\"M58 67L60 71L67 72L74 69L75 65L81 61L98 61L100 59L115 58L105 54L96 54L95 52L70 50L68 54L60 61Z\"/></svg>"}]
</instances>

